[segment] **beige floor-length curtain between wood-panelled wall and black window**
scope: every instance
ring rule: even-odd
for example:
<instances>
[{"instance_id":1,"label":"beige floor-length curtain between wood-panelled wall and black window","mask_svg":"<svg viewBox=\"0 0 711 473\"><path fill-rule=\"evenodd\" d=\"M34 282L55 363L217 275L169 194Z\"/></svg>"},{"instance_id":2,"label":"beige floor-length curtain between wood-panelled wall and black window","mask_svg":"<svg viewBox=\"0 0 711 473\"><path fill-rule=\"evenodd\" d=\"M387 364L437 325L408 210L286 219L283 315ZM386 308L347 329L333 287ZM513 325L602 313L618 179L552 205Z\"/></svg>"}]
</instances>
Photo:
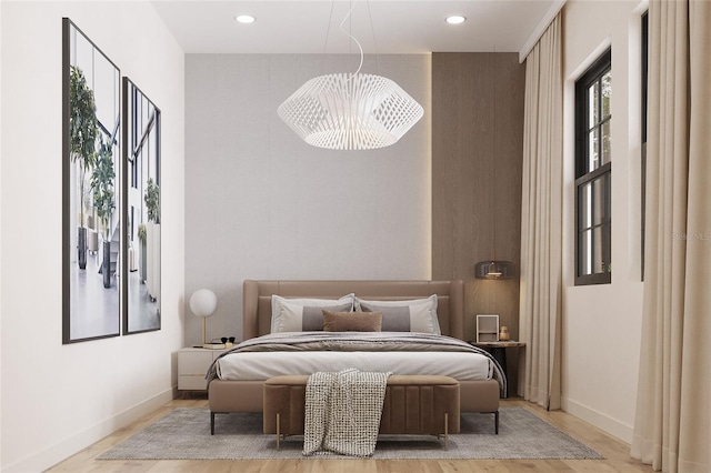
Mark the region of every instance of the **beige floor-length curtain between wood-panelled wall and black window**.
<instances>
[{"instance_id":1,"label":"beige floor-length curtain between wood-panelled wall and black window","mask_svg":"<svg viewBox=\"0 0 711 473\"><path fill-rule=\"evenodd\" d=\"M560 14L525 59L518 393L560 409L562 47Z\"/></svg>"}]
</instances>

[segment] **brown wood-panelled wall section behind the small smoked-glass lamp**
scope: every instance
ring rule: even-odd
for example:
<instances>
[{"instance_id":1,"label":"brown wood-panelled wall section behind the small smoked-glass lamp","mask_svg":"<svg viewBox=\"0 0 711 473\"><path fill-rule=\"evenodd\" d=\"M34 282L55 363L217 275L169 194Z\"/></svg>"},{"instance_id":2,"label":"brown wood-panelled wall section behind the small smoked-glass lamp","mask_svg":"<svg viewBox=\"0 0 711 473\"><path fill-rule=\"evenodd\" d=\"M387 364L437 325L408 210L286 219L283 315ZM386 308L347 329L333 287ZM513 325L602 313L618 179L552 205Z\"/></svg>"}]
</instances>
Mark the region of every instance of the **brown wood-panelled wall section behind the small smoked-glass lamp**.
<instances>
[{"instance_id":1,"label":"brown wood-panelled wall section behind the small smoked-glass lamp","mask_svg":"<svg viewBox=\"0 0 711 473\"><path fill-rule=\"evenodd\" d=\"M519 336L524 83L517 53L432 53L432 279L465 281L470 340L475 314L499 314ZM474 279L494 248L515 279ZM510 351L509 392L517 359Z\"/></svg>"}]
</instances>

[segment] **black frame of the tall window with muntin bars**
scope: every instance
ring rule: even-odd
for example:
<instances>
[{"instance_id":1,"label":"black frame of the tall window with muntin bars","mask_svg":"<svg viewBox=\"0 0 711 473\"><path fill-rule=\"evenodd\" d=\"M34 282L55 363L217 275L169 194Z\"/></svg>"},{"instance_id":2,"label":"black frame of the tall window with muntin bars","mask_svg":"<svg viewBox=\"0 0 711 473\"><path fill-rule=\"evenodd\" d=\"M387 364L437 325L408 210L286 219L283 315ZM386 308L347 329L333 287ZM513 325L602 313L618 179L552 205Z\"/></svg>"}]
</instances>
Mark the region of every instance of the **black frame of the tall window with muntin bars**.
<instances>
[{"instance_id":1,"label":"black frame of the tall window with muntin bars","mask_svg":"<svg viewBox=\"0 0 711 473\"><path fill-rule=\"evenodd\" d=\"M612 162L608 161L604 164L590 170L589 160L589 140L590 131L593 128L602 129L605 122L611 121L612 112L610 111L609 118L602 117L602 88L598 94L598 122L591 125L589 123L589 94L588 90L595 82L601 82L602 77L612 70L612 50L608 49L600 58L575 81L575 285L589 285L589 284L609 284L612 282ZM598 155L602 159L603 139L600 134L598 140ZM595 217L592 217L592 223L590 228L581 229L581 219L583 212L581 211L580 192L584 185L593 183L595 180L602 180L602 204L600 210L602 211L602 218L600 223L594 223ZM595 198L591 199L593 202ZM592 205L592 204L591 204ZM594 208L594 205L593 205ZM591 209L592 212L592 209ZM583 256L588 254L581 249L582 239L581 232L583 230L590 231L591 238L594 236L593 228L601 228L600 242L602 258L601 268L602 272L581 274L583 269ZM595 241L592 240L591 245L595 248ZM593 264L594 266L594 264Z\"/></svg>"}]
</instances>

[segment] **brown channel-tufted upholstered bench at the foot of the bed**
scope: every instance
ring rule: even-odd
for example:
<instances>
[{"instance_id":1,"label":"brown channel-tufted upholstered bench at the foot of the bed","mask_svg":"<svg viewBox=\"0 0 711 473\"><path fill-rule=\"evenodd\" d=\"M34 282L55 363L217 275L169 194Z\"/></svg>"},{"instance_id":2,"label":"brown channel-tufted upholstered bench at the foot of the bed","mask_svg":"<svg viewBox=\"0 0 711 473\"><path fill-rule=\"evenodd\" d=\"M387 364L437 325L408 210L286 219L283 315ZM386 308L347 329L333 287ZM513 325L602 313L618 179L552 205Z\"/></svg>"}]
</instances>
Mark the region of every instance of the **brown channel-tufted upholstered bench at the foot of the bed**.
<instances>
[{"instance_id":1,"label":"brown channel-tufted upholstered bench at the foot of the bed","mask_svg":"<svg viewBox=\"0 0 711 473\"><path fill-rule=\"evenodd\" d=\"M303 434L308 375L264 382L264 433ZM459 433L459 382L449 376L391 375L380 419L380 434Z\"/></svg>"}]
</instances>

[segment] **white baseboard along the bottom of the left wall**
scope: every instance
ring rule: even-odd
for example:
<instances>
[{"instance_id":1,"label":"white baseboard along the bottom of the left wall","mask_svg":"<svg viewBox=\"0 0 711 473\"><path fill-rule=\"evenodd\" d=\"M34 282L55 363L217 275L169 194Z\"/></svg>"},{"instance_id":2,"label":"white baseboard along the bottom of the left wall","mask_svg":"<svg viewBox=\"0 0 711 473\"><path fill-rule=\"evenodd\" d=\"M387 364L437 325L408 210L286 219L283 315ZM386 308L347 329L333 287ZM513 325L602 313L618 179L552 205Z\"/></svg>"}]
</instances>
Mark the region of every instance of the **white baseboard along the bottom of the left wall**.
<instances>
[{"instance_id":1,"label":"white baseboard along the bottom of the left wall","mask_svg":"<svg viewBox=\"0 0 711 473\"><path fill-rule=\"evenodd\" d=\"M147 399L146 401L127 409L126 411L117 413L92 427L78 432L76 435L64 439L41 452L27 456L23 460L4 467L2 471L8 473L44 471L80 452L87 446L100 441L122 426L156 411L172 399L173 389L171 388L154 395L153 397Z\"/></svg>"}]
</instances>

